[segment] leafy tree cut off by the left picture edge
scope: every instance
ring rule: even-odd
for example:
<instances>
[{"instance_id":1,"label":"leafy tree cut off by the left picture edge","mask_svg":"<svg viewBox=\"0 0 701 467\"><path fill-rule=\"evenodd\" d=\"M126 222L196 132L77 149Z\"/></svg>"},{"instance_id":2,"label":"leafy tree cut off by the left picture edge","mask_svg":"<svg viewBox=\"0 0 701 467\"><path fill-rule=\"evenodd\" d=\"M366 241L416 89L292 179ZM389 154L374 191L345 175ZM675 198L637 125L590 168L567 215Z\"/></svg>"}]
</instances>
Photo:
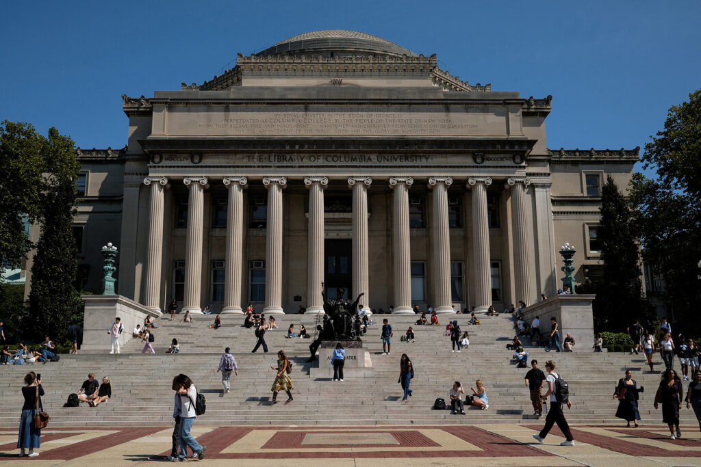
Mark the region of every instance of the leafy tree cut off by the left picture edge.
<instances>
[{"instance_id":1,"label":"leafy tree cut off by the left picture edge","mask_svg":"<svg viewBox=\"0 0 701 467\"><path fill-rule=\"evenodd\" d=\"M32 247L24 222L39 216L44 147L29 123L0 123L0 274Z\"/></svg>"}]
</instances>

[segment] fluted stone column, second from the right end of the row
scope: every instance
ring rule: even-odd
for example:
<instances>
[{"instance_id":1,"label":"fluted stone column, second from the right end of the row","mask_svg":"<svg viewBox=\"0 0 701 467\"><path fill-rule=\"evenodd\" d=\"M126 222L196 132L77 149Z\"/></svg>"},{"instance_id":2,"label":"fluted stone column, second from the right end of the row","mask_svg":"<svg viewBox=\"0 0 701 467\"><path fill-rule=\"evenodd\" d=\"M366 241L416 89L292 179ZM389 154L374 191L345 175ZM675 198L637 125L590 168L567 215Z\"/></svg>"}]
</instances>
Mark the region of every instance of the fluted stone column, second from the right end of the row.
<instances>
[{"instance_id":1,"label":"fluted stone column, second from the right end of the row","mask_svg":"<svg viewBox=\"0 0 701 467\"><path fill-rule=\"evenodd\" d=\"M489 264L489 219L486 211L486 187L491 179L476 176L468 179L472 188L472 246L475 259L475 309L486 312L491 305L491 265Z\"/></svg>"}]
</instances>

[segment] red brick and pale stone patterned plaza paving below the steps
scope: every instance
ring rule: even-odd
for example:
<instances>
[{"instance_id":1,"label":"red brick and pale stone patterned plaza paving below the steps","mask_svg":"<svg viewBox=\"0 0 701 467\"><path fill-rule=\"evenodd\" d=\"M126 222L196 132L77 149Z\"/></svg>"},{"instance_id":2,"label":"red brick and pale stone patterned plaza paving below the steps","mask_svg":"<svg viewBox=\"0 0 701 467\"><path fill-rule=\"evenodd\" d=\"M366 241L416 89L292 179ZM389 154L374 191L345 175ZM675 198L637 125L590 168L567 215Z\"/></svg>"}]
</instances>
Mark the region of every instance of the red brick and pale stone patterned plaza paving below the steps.
<instances>
[{"instance_id":1,"label":"red brick and pale stone patterned plaza paving below the steps","mask_svg":"<svg viewBox=\"0 0 701 467\"><path fill-rule=\"evenodd\" d=\"M204 426L193 434L207 445L203 465L285 466L387 465L401 458L408 466L701 466L698 426L682 426L669 439L663 425L620 428L573 426L574 447L562 447L553 428L544 444L533 440L542 424L457 426L271 427ZM121 466L165 462L172 429L46 428L41 454L19 458L17 432L0 429L0 463L41 466ZM635 459L634 459L635 458ZM392 459L392 460L390 460ZM195 461L196 462L196 461Z\"/></svg>"}]
</instances>

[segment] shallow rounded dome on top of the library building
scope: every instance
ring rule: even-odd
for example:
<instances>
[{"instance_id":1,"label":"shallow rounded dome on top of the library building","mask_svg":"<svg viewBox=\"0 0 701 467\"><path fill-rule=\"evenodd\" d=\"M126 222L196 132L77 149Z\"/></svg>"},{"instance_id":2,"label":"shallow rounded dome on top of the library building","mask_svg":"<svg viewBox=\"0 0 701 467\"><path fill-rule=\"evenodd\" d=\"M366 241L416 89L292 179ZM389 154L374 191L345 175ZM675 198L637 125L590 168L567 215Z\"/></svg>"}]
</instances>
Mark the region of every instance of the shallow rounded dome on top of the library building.
<instances>
[{"instance_id":1,"label":"shallow rounded dome on top of the library building","mask_svg":"<svg viewBox=\"0 0 701 467\"><path fill-rule=\"evenodd\" d=\"M280 41L256 55L407 55L416 54L397 44L365 32L325 29L306 32Z\"/></svg>"}]
</instances>

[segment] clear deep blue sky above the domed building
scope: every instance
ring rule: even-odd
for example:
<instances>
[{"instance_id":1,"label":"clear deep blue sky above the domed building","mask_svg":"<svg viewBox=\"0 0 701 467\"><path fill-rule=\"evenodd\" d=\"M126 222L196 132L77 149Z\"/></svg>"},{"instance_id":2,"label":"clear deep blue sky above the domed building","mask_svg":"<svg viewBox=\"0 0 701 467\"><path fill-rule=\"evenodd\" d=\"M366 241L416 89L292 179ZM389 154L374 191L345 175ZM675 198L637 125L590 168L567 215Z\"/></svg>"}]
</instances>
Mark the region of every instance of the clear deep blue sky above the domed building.
<instances>
[{"instance_id":1,"label":"clear deep blue sky above the domed building","mask_svg":"<svg viewBox=\"0 0 701 467\"><path fill-rule=\"evenodd\" d=\"M353 29L493 90L553 96L550 148L644 147L701 88L699 1L4 2L0 119L127 140L123 93L202 83L303 32Z\"/></svg>"}]
</instances>

